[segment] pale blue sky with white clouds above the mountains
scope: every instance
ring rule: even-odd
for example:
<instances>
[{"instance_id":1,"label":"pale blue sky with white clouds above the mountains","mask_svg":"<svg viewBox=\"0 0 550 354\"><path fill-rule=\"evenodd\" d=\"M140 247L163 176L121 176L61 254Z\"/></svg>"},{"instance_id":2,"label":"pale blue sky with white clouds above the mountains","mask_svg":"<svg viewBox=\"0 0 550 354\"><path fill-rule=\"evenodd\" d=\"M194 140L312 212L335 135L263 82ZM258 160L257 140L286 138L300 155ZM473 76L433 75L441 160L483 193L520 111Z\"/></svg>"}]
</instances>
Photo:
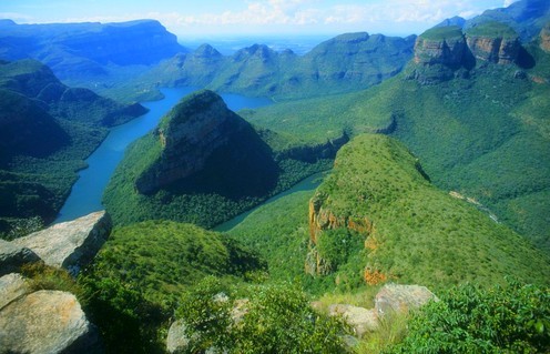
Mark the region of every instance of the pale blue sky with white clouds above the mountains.
<instances>
[{"instance_id":1,"label":"pale blue sky with white clouds above the mountains","mask_svg":"<svg viewBox=\"0 0 550 354\"><path fill-rule=\"evenodd\" d=\"M420 33L513 0L0 0L18 23L156 19L180 38L235 34Z\"/></svg>"}]
</instances>

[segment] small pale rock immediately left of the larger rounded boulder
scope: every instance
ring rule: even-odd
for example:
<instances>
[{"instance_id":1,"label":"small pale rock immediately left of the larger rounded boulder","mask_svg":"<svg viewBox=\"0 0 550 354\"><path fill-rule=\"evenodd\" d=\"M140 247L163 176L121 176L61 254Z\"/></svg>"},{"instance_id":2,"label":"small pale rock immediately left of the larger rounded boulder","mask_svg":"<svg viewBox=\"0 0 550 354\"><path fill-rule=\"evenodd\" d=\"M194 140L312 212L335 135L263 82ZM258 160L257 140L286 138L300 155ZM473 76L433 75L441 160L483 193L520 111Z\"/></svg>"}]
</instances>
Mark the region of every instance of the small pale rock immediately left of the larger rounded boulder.
<instances>
[{"instance_id":1,"label":"small pale rock immediately left of the larger rounded boulder","mask_svg":"<svg viewBox=\"0 0 550 354\"><path fill-rule=\"evenodd\" d=\"M375 309L364 309L353 305L334 304L328 307L330 316L342 316L354 328L354 334L361 337L367 332L378 328L378 313Z\"/></svg>"}]
</instances>

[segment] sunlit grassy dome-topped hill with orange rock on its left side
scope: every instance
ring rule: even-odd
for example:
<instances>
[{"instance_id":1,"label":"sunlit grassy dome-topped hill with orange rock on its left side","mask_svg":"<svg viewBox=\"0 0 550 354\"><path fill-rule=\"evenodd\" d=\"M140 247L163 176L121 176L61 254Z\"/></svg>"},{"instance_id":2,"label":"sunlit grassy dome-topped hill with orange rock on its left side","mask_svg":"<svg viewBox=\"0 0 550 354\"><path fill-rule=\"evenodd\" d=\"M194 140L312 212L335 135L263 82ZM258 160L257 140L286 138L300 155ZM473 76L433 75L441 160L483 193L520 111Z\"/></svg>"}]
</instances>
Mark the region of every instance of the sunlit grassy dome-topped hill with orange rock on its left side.
<instances>
[{"instance_id":1,"label":"sunlit grassy dome-topped hill with orange rock on its left side","mask_svg":"<svg viewBox=\"0 0 550 354\"><path fill-rule=\"evenodd\" d=\"M337 223L336 230L316 233L317 239L332 235L344 242L355 234L364 244L358 252L350 243L344 253L327 252L323 241L316 245L323 261L348 259L347 267L338 264L328 272L352 287L360 285L361 277L436 291L464 282L501 283L505 275L548 282L547 256L475 205L432 186L416 158L384 135L360 135L345 145L312 204L317 218L332 215ZM338 231L346 226L358 233Z\"/></svg>"}]
</instances>

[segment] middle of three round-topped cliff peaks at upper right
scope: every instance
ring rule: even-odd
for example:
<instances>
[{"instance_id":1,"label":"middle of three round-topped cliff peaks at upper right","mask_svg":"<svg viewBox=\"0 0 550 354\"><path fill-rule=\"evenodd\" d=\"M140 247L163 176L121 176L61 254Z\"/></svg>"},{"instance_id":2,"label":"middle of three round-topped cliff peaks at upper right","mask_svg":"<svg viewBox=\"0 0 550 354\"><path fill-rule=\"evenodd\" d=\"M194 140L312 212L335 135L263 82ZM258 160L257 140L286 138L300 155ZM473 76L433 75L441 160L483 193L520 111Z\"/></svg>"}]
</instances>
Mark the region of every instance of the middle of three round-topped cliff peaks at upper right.
<instances>
[{"instance_id":1,"label":"middle of three round-topped cliff peaks at upper right","mask_svg":"<svg viewBox=\"0 0 550 354\"><path fill-rule=\"evenodd\" d=\"M518 59L519 36L508 26L486 22L466 32L468 48L477 60L511 64Z\"/></svg>"}]
</instances>

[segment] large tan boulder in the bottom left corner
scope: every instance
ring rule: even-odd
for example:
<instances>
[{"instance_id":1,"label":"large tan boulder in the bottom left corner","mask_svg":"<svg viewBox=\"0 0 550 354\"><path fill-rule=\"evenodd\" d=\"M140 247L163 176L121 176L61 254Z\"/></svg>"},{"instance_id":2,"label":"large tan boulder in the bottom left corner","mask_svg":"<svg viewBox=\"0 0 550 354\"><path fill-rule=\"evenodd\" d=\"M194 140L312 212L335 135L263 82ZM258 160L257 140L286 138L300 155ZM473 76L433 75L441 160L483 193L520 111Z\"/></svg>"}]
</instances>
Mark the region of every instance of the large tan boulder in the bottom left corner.
<instances>
[{"instance_id":1,"label":"large tan boulder in the bottom left corner","mask_svg":"<svg viewBox=\"0 0 550 354\"><path fill-rule=\"evenodd\" d=\"M101 353L99 334L77 297L45 290L1 309L0 348L8 353Z\"/></svg>"}]
</instances>

